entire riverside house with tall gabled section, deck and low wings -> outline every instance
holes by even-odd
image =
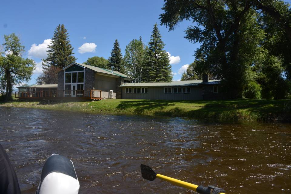
[[[224,99],[220,80],[134,83],[120,72],[73,62],[58,72],[58,84],[18,87],[15,98],[90,99]],[[26,91],[21,91],[21,90]]]

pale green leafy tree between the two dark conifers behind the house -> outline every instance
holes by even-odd
[[[142,37],[139,40],[133,39],[125,48],[125,73],[135,78],[137,82],[142,82],[144,59],[145,46]]]

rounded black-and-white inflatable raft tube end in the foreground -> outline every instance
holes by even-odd
[[[73,162],[53,154],[42,168],[42,176],[35,194],[78,194],[80,184]]]

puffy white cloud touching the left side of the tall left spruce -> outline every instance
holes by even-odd
[[[47,56],[48,45],[52,44],[52,39],[45,39],[41,44],[31,45],[28,51],[28,57],[36,57],[39,59],[44,59]]]

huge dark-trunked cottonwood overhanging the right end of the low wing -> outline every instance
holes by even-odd
[[[252,1],[165,1],[161,24],[173,30],[184,19],[195,26],[186,30],[186,38],[202,45],[197,53],[206,53],[208,71],[227,84],[229,97],[241,97],[249,78],[258,45],[264,32],[256,22]]]

